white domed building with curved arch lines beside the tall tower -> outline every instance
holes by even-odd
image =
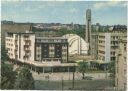
[[[87,43],[76,34],[66,34],[63,36],[69,44],[69,55],[87,55]]]

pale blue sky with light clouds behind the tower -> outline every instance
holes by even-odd
[[[90,8],[92,24],[127,25],[125,1],[5,1],[1,2],[1,20],[33,23],[86,24]]]

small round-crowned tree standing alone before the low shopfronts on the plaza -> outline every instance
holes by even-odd
[[[82,75],[83,75],[83,79],[84,79],[84,75],[85,75],[85,72],[88,70],[88,68],[89,68],[89,65],[88,65],[88,63],[87,62],[79,62],[78,63],[78,71],[80,72],[80,73],[82,73]]]

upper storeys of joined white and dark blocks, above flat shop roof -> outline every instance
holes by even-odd
[[[35,33],[7,33],[6,49],[11,59],[67,62],[68,42],[62,37],[36,37]]]

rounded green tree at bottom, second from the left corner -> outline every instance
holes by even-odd
[[[32,90],[34,88],[35,86],[32,73],[27,67],[21,68],[15,83],[15,89]]]

